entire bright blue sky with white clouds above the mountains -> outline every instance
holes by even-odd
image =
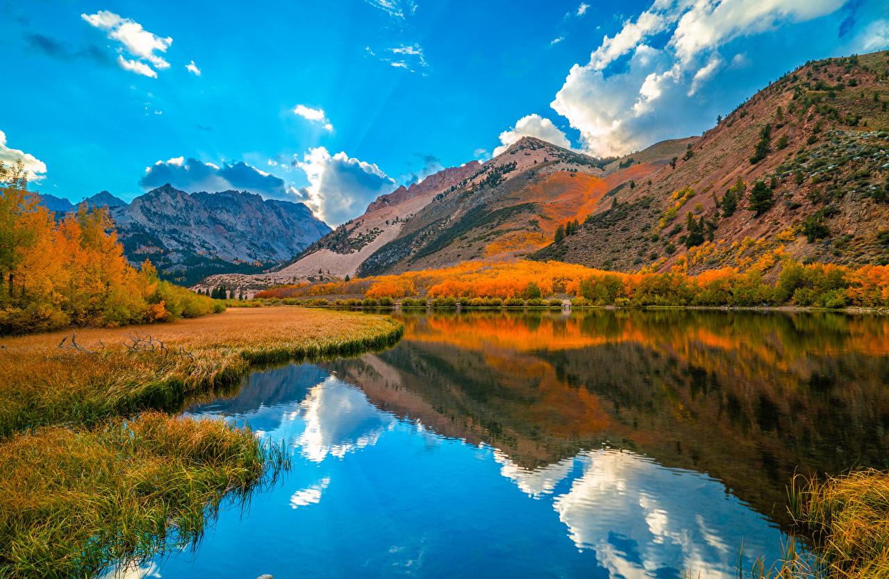
[[[621,155],[886,48],[885,0],[0,0],[0,161],[74,202],[235,188],[335,226],[524,135]]]

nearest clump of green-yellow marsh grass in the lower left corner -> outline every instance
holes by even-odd
[[[284,449],[219,420],[148,412],[0,446],[0,576],[89,577],[196,541],[223,500],[274,484]]]

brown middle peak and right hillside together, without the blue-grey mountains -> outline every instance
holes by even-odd
[[[889,52],[813,61],[701,137],[616,159],[525,137],[409,210],[388,203],[397,226],[362,251],[360,228],[339,229],[282,272],[355,277],[478,258],[623,272],[682,263],[693,274],[782,255],[889,263],[887,81]],[[378,209],[368,210],[356,223]]]

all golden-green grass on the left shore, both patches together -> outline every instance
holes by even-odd
[[[249,430],[163,411],[254,365],[401,333],[380,315],[267,307],[0,338],[0,577],[90,577],[195,540],[221,501],[246,500],[287,460]]]

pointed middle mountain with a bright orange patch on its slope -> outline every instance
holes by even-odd
[[[466,259],[522,257],[547,245],[558,226],[582,219],[626,177],[608,160],[523,137],[471,177],[437,195],[357,274],[449,266]],[[633,167],[638,175],[664,159]],[[615,178],[614,175],[619,177]],[[621,177],[622,176],[622,177]]]

